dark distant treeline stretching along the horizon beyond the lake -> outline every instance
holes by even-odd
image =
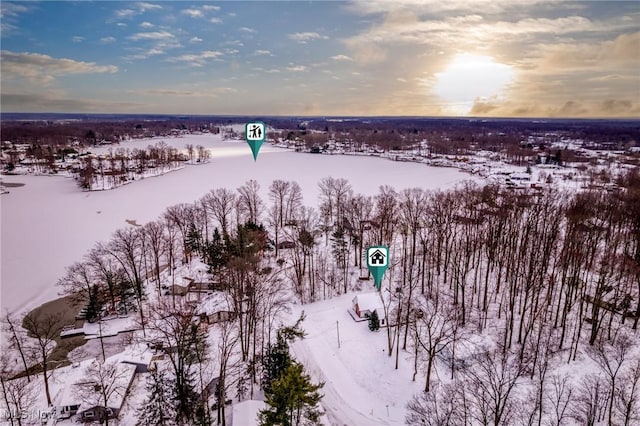
[[[443,141],[449,147],[474,144],[498,148],[518,144],[529,136],[582,139],[624,149],[640,144],[639,120],[479,119],[479,118],[326,118],[326,117],[221,117],[144,115],[3,114],[2,140],[14,143],[64,145],[70,140],[94,144],[124,137],[168,136],[175,130],[211,131],[219,126],[262,120],[269,126],[299,135],[325,134],[353,137],[384,148],[409,146],[416,140]]]

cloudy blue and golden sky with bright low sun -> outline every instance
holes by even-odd
[[[640,117],[640,2],[1,9],[5,112]]]

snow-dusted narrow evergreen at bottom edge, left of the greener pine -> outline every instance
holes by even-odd
[[[173,383],[163,371],[151,371],[145,386],[149,398],[138,410],[136,426],[164,426],[175,424],[176,409]]]

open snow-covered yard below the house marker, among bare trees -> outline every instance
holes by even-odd
[[[325,382],[322,406],[331,424],[403,425],[406,402],[422,389],[420,382],[411,381],[412,356],[401,352],[394,369],[386,329],[371,332],[366,321],[349,315],[354,294],[296,306],[294,316],[306,314],[302,328],[307,335],[293,343],[293,353],[316,381]]]

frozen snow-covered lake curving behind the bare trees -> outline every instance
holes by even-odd
[[[153,141],[122,146],[145,148]],[[380,185],[396,189],[419,186],[449,188],[468,179],[457,169],[401,163],[373,157],[302,154],[267,145],[254,163],[249,147],[240,141],[222,141],[214,135],[167,139],[177,147],[203,145],[212,161],[167,175],[136,181],[98,192],[82,192],[63,177],[2,176],[9,188],[0,198],[1,291],[0,306],[10,312],[35,307],[56,298],[56,281],[65,267],[80,260],[97,241],[107,240],[127,219],[144,224],[166,207],[192,202],[217,187],[235,189],[257,180],[263,199],[274,179],[297,181],[306,205],[316,205],[318,182],[326,176],[346,178],[354,191],[373,195]],[[100,148],[106,150],[107,148]],[[93,150],[94,152],[98,150]]]

